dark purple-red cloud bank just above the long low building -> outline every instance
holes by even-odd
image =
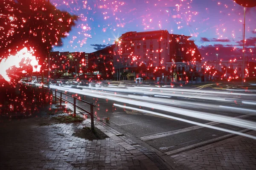
[[[236,48],[235,48],[236,47]],[[218,50],[217,50],[218,48]],[[245,56],[251,56],[250,50],[256,51],[256,47],[254,48],[245,48]],[[198,47],[202,57],[207,60],[215,60],[216,54],[218,54],[218,59],[231,59],[236,58],[240,59],[243,55],[242,48],[238,48],[237,45],[223,45],[223,44],[214,44],[214,45],[201,45]]]

